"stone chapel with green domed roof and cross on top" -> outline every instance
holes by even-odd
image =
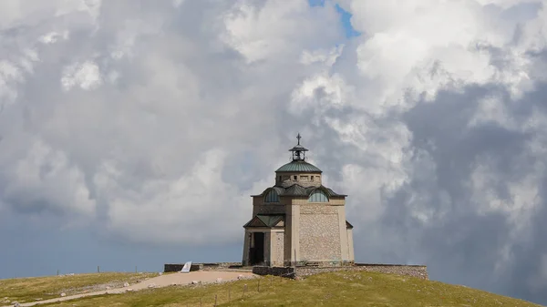
[[[322,171],[305,160],[308,149],[289,149],[291,162],[275,171],[275,184],[253,195],[243,265],[349,265],[355,261],[346,195],[322,184]]]

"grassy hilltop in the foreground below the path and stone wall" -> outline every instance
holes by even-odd
[[[261,292],[257,292],[260,280]],[[243,288],[247,292],[243,297]],[[228,295],[230,292],[230,301]],[[302,281],[263,277],[222,284],[170,286],[47,306],[539,306],[439,281],[375,272],[334,272]]]

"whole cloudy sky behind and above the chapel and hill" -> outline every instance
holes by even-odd
[[[0,0],[0,278],[241,261],[299,132],[356,261],[547,304],[544,5]]]

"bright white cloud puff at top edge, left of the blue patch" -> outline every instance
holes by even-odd
[[[297,46],[317,39],[309,36],[316,33],[316,28],[324,29],[324,39],[335,35],[336,27],[320,25],[335,21],[332,5],[321,9],[319,14],[314,13],[305,1],[239,0],[222,16],[222,40],[239,51],[248,63],[292,57],[299,52]]]

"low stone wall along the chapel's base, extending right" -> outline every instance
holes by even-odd
[[[254,274],[285,276],[290,278],[306,277],[331,271],[376,271],[387,274],[412,276],[423,280],[429,279],[428,267],[425,265],[356,263],[355,265],[336,267],[253,267]]]

